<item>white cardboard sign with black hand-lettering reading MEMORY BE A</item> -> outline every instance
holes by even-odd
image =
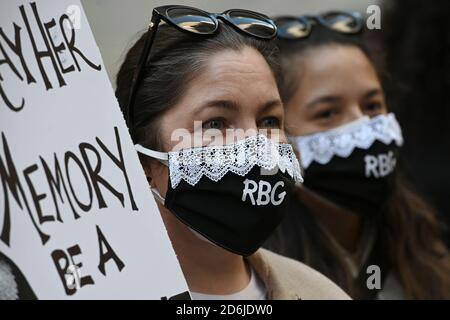
[[[188,288],[78,0],[0,4],[0,252],[40,299]]]

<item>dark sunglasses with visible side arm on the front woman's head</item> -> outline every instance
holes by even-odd
[[[138,60],[138,65],[134,71],[128,98],[126,120],[130,132],[132,132],[134,125],[134,102],[137,88],[142,78],[155,33],[161,21],[182,32],[208,36],[219,31],[219,19],[238,31],[258,39],[270,40],[277,35],[277,27],[269,17],[249,10],[231,9],[218,14],[178,5],[162,6],[153,9],[152,19],[144,40],[144,47]]]

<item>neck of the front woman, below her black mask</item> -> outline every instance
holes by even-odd
[[[166,208],[160,212],[191,291],[226,295],[248,285],[250,270],[242,256],[198,238]]]

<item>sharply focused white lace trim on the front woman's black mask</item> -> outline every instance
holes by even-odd
[[[186,181],[196,185],[203,176],[217,182],[228,172],[247,175],[254,166],[278,167],[296,182],[303,182],[300,165],[290,144],[279,144],[265,135],[251,136],[234,144],[207,146],[169,152],[172,188]]]

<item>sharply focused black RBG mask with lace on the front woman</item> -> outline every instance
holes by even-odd
[[[253,254],[275,230],[302,181],[292,147],[264,135],[169,152],[168,161],[168,190],[165,199],[156,198],[192,230],[242,256]]]

